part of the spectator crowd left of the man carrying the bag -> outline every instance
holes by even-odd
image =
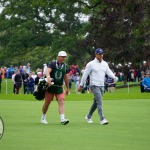
[[[14,94],[33,94],[33,91],[38,85],[39,79],[43,76],[43,74],[44,71],[40,68],[36,70],[36,73],[34,71],[31,71],[30,63],[28,63],[26,66],[20,65],[19,67],[13,67],[12,65],[10,65],[9,68],[1,67],[0,83],[2,82],[3,78],[12,79]]]

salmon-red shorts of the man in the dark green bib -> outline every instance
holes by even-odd
[[[51,102],[53,101],[54,96],[56,97],[56,100],[58,99],[65,99],[65,93],[60,93],[60,94],[53,94],[53,93],[49,93],[48,91],[45,92],[45,100],[47,102]]]

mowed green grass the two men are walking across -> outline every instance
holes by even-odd
[[[84,117],[93,99],[86,93],[66,97],[65,114],[70,123],[63,126],[56,101],[47,113],[49,124],[43,125],[44,101],[30,94],[0,94],[0,116],[5,124],[0,150],[149,150],[150,93],[140,93],[139,87],[122,88],[103,98],[108,125],[100,125],[97,111],[94,123],[86,123]]]

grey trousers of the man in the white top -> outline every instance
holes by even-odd
[[[104,87],[92,85],[90,86],[90,89],[94,95],[94,101],[89,110],[87,117],[90,119],[97,108],[100,120],[103,120],[104,114],[102,109],[102,96],[104,93]]]

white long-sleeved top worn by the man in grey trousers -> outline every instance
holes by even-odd
[[[83,86],[88,75],[90,76],[90,85],[104,86],[105,75],[108,75],[110,78],[114,79],[115,75],[110,70],[106,61],[102,60],[99,62],[97,58],[90,61],[85,68],[84,74],[81,79],[80,85]]]

